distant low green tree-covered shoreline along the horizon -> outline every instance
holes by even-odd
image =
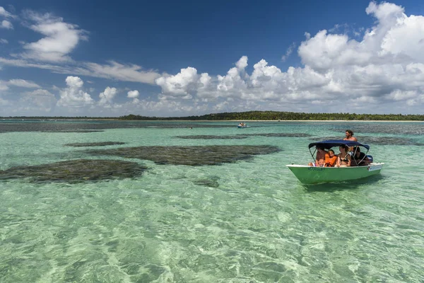
[[[0,117],[0,119],[36,119],[36,120],[324,120],[324,121],[424,121],[424,115],[402,114],[355,114],[355,113],[303,113],[303,112],[278,112],[278,111],[247,111],[223,112],[200,116],[186,117],[148,117],[141,115],[124,115],[120,117]]]

